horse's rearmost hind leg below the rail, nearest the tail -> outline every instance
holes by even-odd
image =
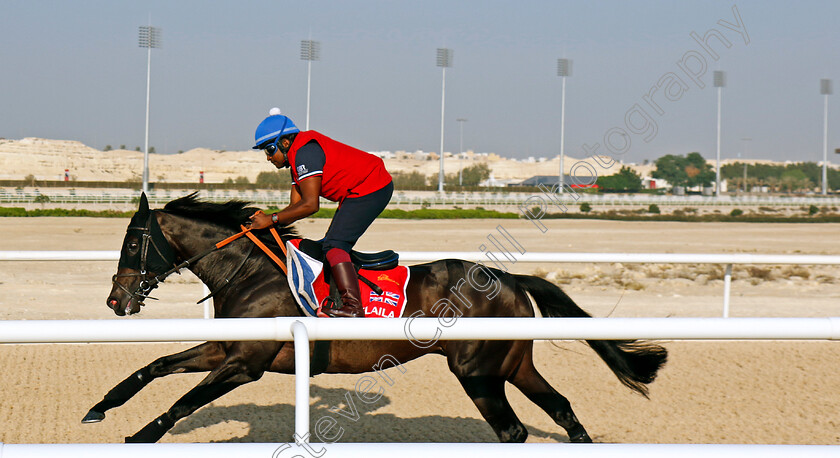
[[[586,429],[580,424],[575,413],[572,412],[572,405],[562,394],[558,393],[548,382],[537,372],[529,349],[522,364],[520,364],[510,382],[554,420],[562,426],[569,435],[571,442],[592,442]]]

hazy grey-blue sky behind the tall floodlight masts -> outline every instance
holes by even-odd
[[[567,155],[714,158],[720,70],[722,158],[819,161],[820,79],[840,84],[837,17],[835,1],[0,0],[0,137],[142,147],[138,27],[151,24],[162,29],[149,133],[159,153],[247,150],[272,107],[305,128],[300,42],[312,39],[310,128],[367,151],[440,149],[446,47],[445,151],[462,140],[511,158],[559,154],[567,58]]]

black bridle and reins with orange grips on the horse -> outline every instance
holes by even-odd
[[[152,248],[154,248],[155,252],[157,253],[157,255],[159,257],[161,257],[162,259],[166,259],[166,256],[163,254],[163,251],[166,251],[166,250],[161,250],[157,246],[157,244],[155,243],[154,237],[151,234],[151,222],[152,222],[153,217],[154,217],[154,214],[149,215],[149,218],[146,220],[145,227],[137,227],[137,226],[131,227],[131,226],[129,226],[129,228],[128,228],[129,230],[130,229],[139,230],[142,233],[143,240],[142,240],[142,244],[141,244],[141,248],[140,248],[140,272],[139,273],[130,273],[130,274],[115,274],[111,278],[111,282],[113,284],[117,285],[120,289],[122,289],[123,291],[128,293],[131,297],[139,297],[140,298],[140,300],[139,300],[140,305],[144,305],[143,301],[145,301],[146,299],[155,299],[156,300],[156,298],[149,296],[149,293],[153,289],[157,288],[160,283],[163,283],[163,281],[166,279],[166,277],[168,277],[169,275],[172,275],[175,272],[180,271],[181,269],[183,269],[185,267],[189,267],[190,265],[198,262],[200,259],[209,255],[210,253],[213,253],[216,250],[224,248],[225,246],[229,245],[231,242],[234,242],[234,241],[242,238],[243,236],[248,237],[248,239],[250,239],[254,243],[254,245],[258,246],[260,248],[260,250],[262,250],[275,264],[277,264],[277,266],[280,267],[280,270],[282,270],[285,275],[289,274],[288,269],[286,268],[286,263],[284,261],[282,261],[280,258],[278,258],[277,255],[275,255],[262,241],[260,241],[260,239],[257,238],[256,235],[252,234],[250,228],[246,228],[245,226],[239,226],[242,229],[242,232],[238,232],[238,233],[236,233],[236,234],[234,234],[234,235],[232,235],[232,236],[230,236],[230,237],[228,237],[224,240],[221,240],[221,241],[217,242],[216,244],[214,244],[212,247],[208,248],[207,250],[190,257],[189,259],[181,262],[180,264],[175,265],[174,267],[167,270],[166,272],[164,272],[162,274],[159,274],[159,275],[155,276],[154,278],[152,278],[150,280],[146,280],[146,274],[147,274],[147,272],[146,272],[146,258],[147,258],[148,252],[149,252],[149,247],[151,246]],[[269,232],[271,232],[271,235],[274,237],[274,240],[277,242],[277,245],[280,247],[280,250],[283,252],[283,255],[287,256],[286,246],[283,243],[283,240],[280,238],[280,235],[277,234],[277,230],[274,227],[271,227],[269,229]],[[224,283],[221,286],[219,286],[218,288],[216,288],[215,291],[211,292],[210,294],[208,294],[207,296],[202,298],[200,301],[198,301],[198,303],[200,304],[200,303],[206,301],[207,299],[213,297],[214,295],[216,295],[216,293],[218,293],[224,287],[226,287],[228,284],[230,284],[230,280],[233,277],[235,277],[237,273],[239,273],[239,271],[245,265],[245,262],[251,256],[253,251],[254,251],[254,246],[252,245],[251,249],[248,251],[248,254],[245,256],[245,258],[242,260],[242,262],[239,263],[239,265],[236,267],[236,269],[233,270],[231,275],[229,275],[228,278],[225,279]],[[167,262],[170,263],[170,264],[175,264],[174,260],[173,261],[167,260]],[[122,286],[120,283],[117,282],[117,278],[119,278],[119,277],[141,277],[140,285],[138,285],[137,289],[132,293],[128,289],[126,289],[124,286]]]

